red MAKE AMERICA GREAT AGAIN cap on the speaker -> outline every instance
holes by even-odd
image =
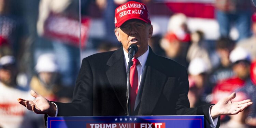
[[[115,27],[120,27],[129,19],[140,19],[151,24],[146,5],[136,1],[124,3],[115,10]]]

